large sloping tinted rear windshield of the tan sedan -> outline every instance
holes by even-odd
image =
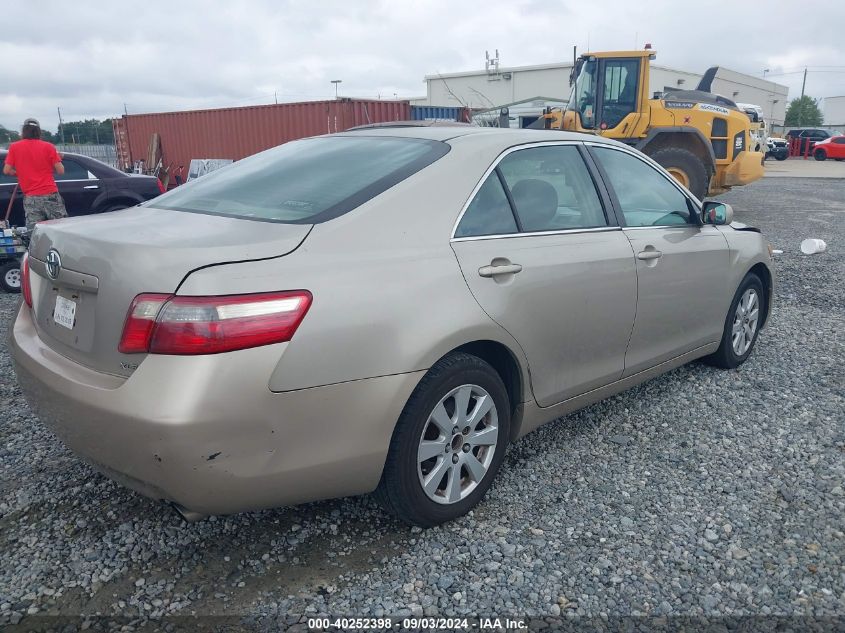
[[[430,165],[446,143],[331,136],[280,145],[147,203],[160,209],[313,224],[351,211]]]

